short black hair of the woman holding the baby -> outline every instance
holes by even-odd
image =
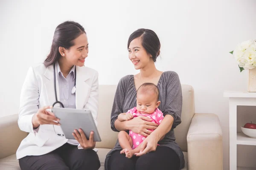
[[[156,62],[157,57],[160,54],[161,47],[157,34],[150,29],[140,28],[130,35],[127,48],[129,48],[131,41],[138,37],[141,37],[141,44],[143,48],[145,48],[148,54],[152,55],[154,62]]]

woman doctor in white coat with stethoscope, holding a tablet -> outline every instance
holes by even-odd
[[[87,56],[84,28],[66,21],[55,29],[44,64],[29,68],[21,91],[18,119],[20,129],[29,132],[16,153],[21,170],[99,169],[93,132],[89,140],[81,129],[74,130],[76,140],[65,139],[59,120],[50,112],[58,101],[65,108],[90,110],[96,122],[98,73],[84,67]]]

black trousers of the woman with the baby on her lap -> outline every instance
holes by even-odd
[[[131,159],[114,152],[108,162],[108,170],[179,170],[180,158],[169,147],[157,147],[155,152]]]

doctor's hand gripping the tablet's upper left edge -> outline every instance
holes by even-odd
[[[60,121],[55,115],[47,111],[47,109],[51,109],[52,106],[44,106],[43,108],[38,109],[38,112],[35,113],[32,117],[33,128],[37,128],[39,125],[60,125],[58,122]],[[56,122],[54,122],[56,121]]]

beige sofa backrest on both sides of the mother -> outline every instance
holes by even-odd
[[[183,105],[181,113],[182,123],[175,128],[176,142],[183,151],[187,151],[186,135],[189,125],[195,113],[194,90],[190,85],[182,86]],[[113,148],[116,144],[117,132],[111,130],[110,116],[113,105],[113,99],[116,92],[116,85],[99,85],[99,113],[98,130],[102,142],[97,142],[98,148]]]

